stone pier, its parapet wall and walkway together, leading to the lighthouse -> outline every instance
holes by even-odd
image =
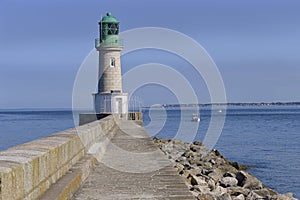
[[[108,116],[0,152],[0,200],[194,199],[139,124]]]

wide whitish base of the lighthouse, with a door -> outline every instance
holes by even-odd
[[[94,94],[94,110],[96,113],[120,114],[127,117],[127,93],[97,93]]]

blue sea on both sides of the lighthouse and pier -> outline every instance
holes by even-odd
[[[192,121],[195,112],[200,122]],[[67,109],[2,109],[0,150],[72,128],[78,122],[73,117]],[[299,106],[143,110],[143,122],[152,137],[180,138],[183,134],[180,139],[203,141],[218,119],[224,120],[224,126],[216,129],[220,133],[213,141],[214,149],[231,161],[248,165],[247,171],[264,185],[300,198]]]

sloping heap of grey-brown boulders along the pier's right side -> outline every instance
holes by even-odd
[[[291,193],[279,194],[266,187],[246,166],[230,162],[201,142],[158,139],[154,142],[174,163],[197,199],[203,200],[296,200]]]

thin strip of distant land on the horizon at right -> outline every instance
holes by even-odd
[[[300,102],[272,102],[272,103],[208,103],[208,104],[162,104],[154,107],[177,108],[177,107],[211,107],[211,106],[240,106],[240,107],[259,107],[259,106],[300,106]],[[150,108],[145,106],[143,108]]]

